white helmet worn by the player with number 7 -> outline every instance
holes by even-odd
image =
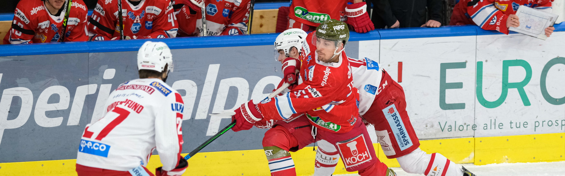
[[[173,71],[173,57],[167,44],[147,41],[137,52],[137,69],[163,72],[168,64],[168,71]]]

